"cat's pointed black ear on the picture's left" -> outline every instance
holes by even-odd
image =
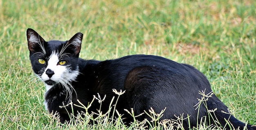
[[[42,46],[44,39],[33,29],[27,29],[27,46],[30,52],[34,52],[35,48]]]

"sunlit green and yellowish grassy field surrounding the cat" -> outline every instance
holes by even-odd
[[[236,118],[256,125],[256,2],[245,1],[0,0],[0,130],[140,127],[56,122],[33,79],[27,28],[45,40],[82,32],[85,59],[152,54],[193,65]]]

